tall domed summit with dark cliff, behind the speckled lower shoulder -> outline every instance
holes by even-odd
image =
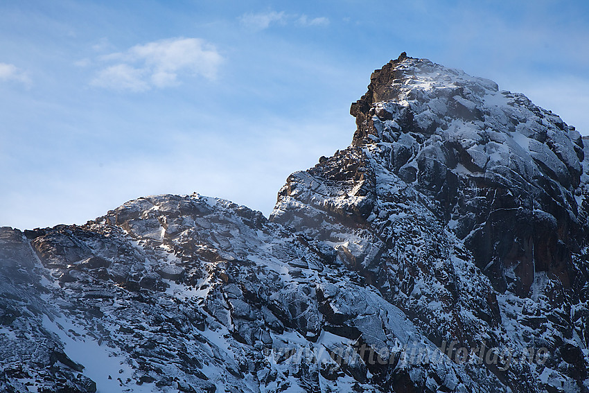
[[[387,169],[439,203],[437,214],[500,291],[529,295],[534,272],[579,292],[571,260],[589,234],[583,141],[559,116],[428,60],[389,62],[353,103],[355,146],[384,146]]]

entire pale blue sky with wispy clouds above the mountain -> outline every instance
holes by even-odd
[[[2,1],[0,226],[193,191],[267,215],[402,51],[589,134],[587,42],[587,1]]]

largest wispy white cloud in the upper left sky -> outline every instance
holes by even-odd
[[[215,79],[222,56],[199,38],[173,38],[136,45],[100,60],[114,62],[96,74],[91,85],[116,90],[145,91],[179,85],[179,77]]]

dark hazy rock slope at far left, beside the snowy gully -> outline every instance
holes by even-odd
[[[96,391],[62,342],[39,324],[47,292],[22,233],[0,228],[0,390],[28,392],[25,383],[33,377],[46,392]]]

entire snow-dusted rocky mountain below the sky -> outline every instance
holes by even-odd
[[[589,140],[405,53],[350,112],[270,218],[1,228],[0,391],[589,392]]]

